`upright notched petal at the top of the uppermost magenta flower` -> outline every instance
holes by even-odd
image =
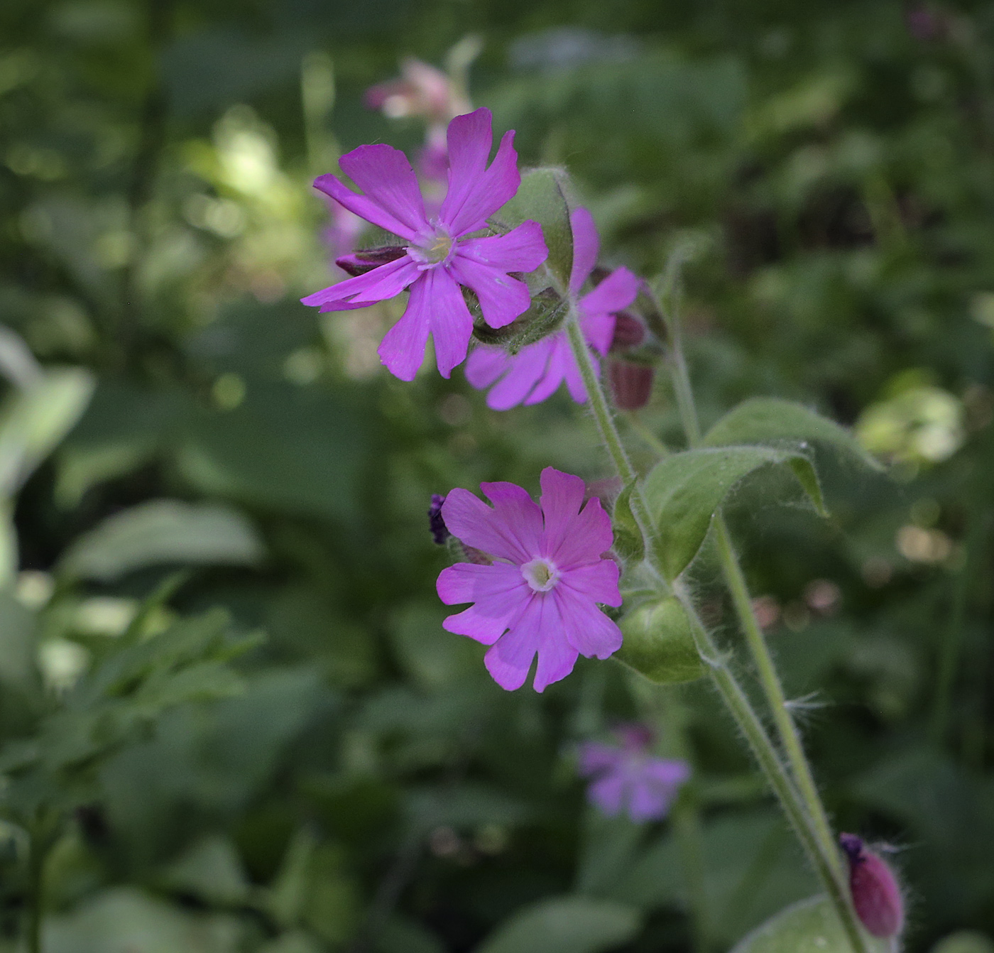
[[[494,161],[484,169],[493,141],[491,121],[489,109],[477,109],[448,124],[448,193],[438,218],[455,237],[482,229],[521,185],[513,131],[504,133]]]

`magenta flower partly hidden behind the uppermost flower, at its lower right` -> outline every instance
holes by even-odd
[[[576,209],[570,223],[573,226],[570,291],[576,295],[597,262],[599,241],[593,218],[586,209]],[[638,285],[638,278],[627,268],[617,268],[580,298],[580,328],[598,354],[607,353],[614,335],[614,312],[635,300]],[[580,368],[570,350],[565,328],[522,348],[514,356],[500,348],[477,348],[466,362],[466,380],[479,391],[490,388],[487,404],[494,410],[507,410],[522,401],[539,403],[555,394],[564,381],[578,403],[586,399]]]

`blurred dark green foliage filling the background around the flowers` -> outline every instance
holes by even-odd
[[[470,32],[474,102],[569,166],[609,262],[694,249],[706,424],[786,397],[893,463],[820,447],[831,521],[745,479],[731,522],[831,813],[899,849],[908,949],[994,934],[994,7],[7,0],[0,943],[38,888],[58,953],[690,949],[669,825],[593,816],[573,770],[644,690],[581,660],[505,694],[439,624],[429,494],[604,477],[592,423],[403,385],[390,305],[296,301],[330,280],[311,177],[420,140],[364,88]],[[679,448],[664,381],[644,429]],[[709,544],[693,571],[731,634]],[[717,700],[656,691],[728,948],[815,886]]]

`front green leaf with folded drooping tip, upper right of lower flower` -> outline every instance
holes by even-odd
[[[658,527],[659,556],[671,579],[697,556],[712,518],[736,485],[770,464],[788,466],[818,513],[827,515],[818,476],[799,450],[700,448],[674,453],[656,465],[645,480],[643,492]]]

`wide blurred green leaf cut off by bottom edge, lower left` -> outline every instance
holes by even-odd
[[[134,887],[113,887],[46,921],[46,953],[239,953],[232,916],[189,913]]]

